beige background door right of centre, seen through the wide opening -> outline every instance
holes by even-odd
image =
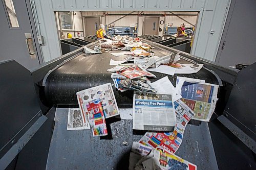
[[[144,17],[143,34],[158,35],[159,17]]]

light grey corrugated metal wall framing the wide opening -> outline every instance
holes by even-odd
[[[55,11],[189,11],[199,12],[197,30],[191,54],[214,61],[218,50],[226,13],[231,0],[31,0],[34,1],[34,12],[38,15],[37,26],[45,37],[41,46],[45,61],[60,56]],[[93,15],[98,14],[97,12]],[[99,12],[102,14],[102,12]],[[109,18],[112,20],[114,18]],[[183,21],[169,19],[174,25]],[[187,17],[194,22],[193,17]],[[131,19],[137,20],[137,19]],[[141,22],[142,17],[139,21]],[[107,21],[108,22],[108,21]],[[120,20],[120,24],[124,21]],[[126,23],[126,22],[125,22]],[[117,24],[117,23],[116,23]],[[118,23],[119,24],[119,23]],[[214,34],[212,31],[214,31]],[[142,34],[142,30],[139,30]]]

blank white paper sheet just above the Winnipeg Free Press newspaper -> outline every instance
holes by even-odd
[[[180,92],[169,81],[168,76],[151,83],[153,88],[159,94],[172,94],[173,101],[181,98]]]

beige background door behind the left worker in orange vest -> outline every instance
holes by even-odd
[[[85,17],[84,25],[86,26],[86,35],[96,35],[100,25],[100,17]]]

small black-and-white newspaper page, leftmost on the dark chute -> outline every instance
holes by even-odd
[[[89,123],[84,122],[84,119],[80,109],[69,108],[67,130],[90,129]]]

